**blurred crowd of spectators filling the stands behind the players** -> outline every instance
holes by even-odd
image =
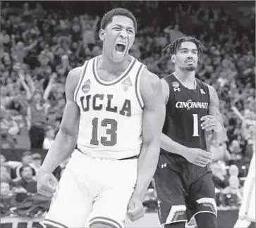
[[[138,18],[130,55],[159,77],[173,72],[173,63],[161,53],[166,44],[184,35],[205,44],[197,77],[217,89],[226,127],[224,142],[209,146],[214,156],[214,184],[219,205],[239,205],[255,140],[255,8],[238,16],[199,2],[94,4],[1,1],[1,148],[50,148],[66,103],[68,71],[102,53],[99,22],[104,12],[121,6]],[[1,157],[1,196],[10,195],[17,201],[13,197],[18,195],[22,202],[35,194],[42,158],[30,151],[21,163]],[[55,172],[56,179],[63,167]],[[155,206],[153,185],[145,202]]]

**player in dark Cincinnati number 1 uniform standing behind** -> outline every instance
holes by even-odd
[[[217,227],[212,171],[205,132],[222,141],[223,123],[215,89],[195,78],[202,44],[181,37],[164,49],[175,72],[162,80],[166,119],[155,175],[159,218],[165,228],[184,228],[191,215],[199,228]]]

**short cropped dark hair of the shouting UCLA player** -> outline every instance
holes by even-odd
[[[105,13],[100,23],[100,28],[104,30],[105,27],[112,22],[113,17],[116,15],[123,15],[133,20],[134,29],[135,29],[135,32],[137,32],[137,27],[138,27],[137,20],[133,15],[133,13],[128,11],[126,8],[114,8],[111,11]]]

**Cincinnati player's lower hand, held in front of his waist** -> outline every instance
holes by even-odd
[[[194,165],[205,167],[212,161],[211,153],[204,151],[200,148],[189,148],[186,153],[183,154],[185,159]]]

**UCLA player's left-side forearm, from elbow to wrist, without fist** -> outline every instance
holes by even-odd
[[[54,172],[60,163],[71,156],[76,142],[77,137],[75,135],[67,134],[64,130],[60,129],[44,159],[41,168],[42,172]]]

